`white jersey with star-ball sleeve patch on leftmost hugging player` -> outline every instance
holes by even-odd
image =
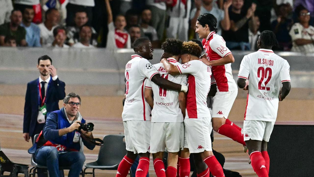
[[[132,60],[125,66],[126,100],[123,106],[122,119],[150,120],[151,108],[144,99],[147,78],[150,80],[159,74],[156,68],[145,58],[132,55]]]

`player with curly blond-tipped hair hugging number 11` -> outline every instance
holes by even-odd
[[[210,134],[212,132],[210,112],[207,107],[207,95],[210,89],[211,68],[199,61],[202,49],[192,41],[184,42],[181,49],[181,65],[173,65],[162,59],[166,71],[171,75],[189,74],[189,91],[184,119],[187,146],[190,153],[200,155],[197,158],[208,165],[204,171],[197,171],[198,176],[205,176],[209,171],[216,177],[225,176],[223,169],[212,152]]]

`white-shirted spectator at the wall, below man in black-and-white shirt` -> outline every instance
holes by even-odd
[[[92,28],[90,26],[87,25],[82,26],[79,32],[79,37],[80,42],[75,43],[73,45],[74,48],[95,48],[93,45],[89,43],[92,37]]]

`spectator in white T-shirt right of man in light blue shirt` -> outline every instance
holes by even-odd
[[[55,8],[48,9],[45,22],[38,25],[41,31],[42,46],[47,46],[47,44],[51,44],[54,41],[53,29],[57,27],[59,21],[59,11]]]

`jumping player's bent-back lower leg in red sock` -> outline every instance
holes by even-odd
[[[225,117],[213,117],[212,125],[215,132],[225,135],[243,146],[246,146],[241,130],[233,125],[226,124]]]

